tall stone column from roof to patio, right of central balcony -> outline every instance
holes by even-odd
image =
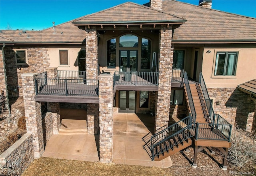
[[[168,125],[169,121],[173,60],[172,27],[166,28],[162,25],[159,43],[159,84],[155,131],[164,125]]]

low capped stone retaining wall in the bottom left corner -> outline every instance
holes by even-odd
[[[26,133],[0,155],[0,175],[21,175],[33,159],[33,137],[31,133]]]

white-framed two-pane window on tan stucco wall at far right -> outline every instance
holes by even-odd
[[[217,52],[214,75],[235,76],[238,52]]]

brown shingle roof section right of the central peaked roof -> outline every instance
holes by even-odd
[[[249,40],[256,42],[256,18],[204,8],[176,0],[164,0],[163,11],[186,18],[174,30],[172,41]]]

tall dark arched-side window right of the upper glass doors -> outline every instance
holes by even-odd
[[[150,69],[151,42],[146,38],[142,38],[141,44],[141,69]]]

